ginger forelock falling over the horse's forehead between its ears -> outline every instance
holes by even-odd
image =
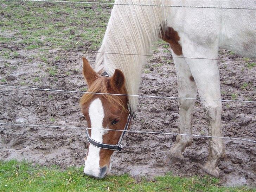
[[[80,100],[80,105],[83,105],[91,101],[92,97],[95,95],[93,93],[103,93],[102,96],[106,98],[110,103],[116,103],[117,105],[120,106],[122,110],[126,110],[124,103],[118,96],[104,94],[104,93],[109,93],[108,88],[109,88],[109,78],[105,78],[105,77],[97,78],[87,90],[88,93],[85,93],[82,96]]]

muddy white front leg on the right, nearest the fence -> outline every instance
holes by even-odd
[[[186,45],[183,46],[183,54],[185,57],[196,58],[217,58],[218,57],[218,44],[216,46],[206,48],[195,44],[193,41],[186,41]],[[215,47],[213,49],[213,47]],[[220,100],[220,82],[219,82],[219,70],[217,60],[211,59],[185,59],[190,70],[193,74],[193,78],[197,84],[200,98],[203,104],[204,114],[207,121],[209,136],[222,137],[221,128],[221,111],[222,103]],[[208,174],[215,177],[219,177],[219,168],[217,167],[220,159],[225,158],[225,145],[221,138],[209,138],[209,157],[206,164],[203,166],[203,170]]]

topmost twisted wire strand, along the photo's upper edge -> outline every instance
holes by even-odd
[[[83,2],[83,1],[52,1],[52,0],[23,0],[23,1],[38,1],[38,2],[61,2],[61,3],[83,3],[83,4],[101,4],[101,5],[133,5],[133,6],[154,6],[154,7],[184,7],[184,8],[211,8],[211,9],[247,9],[255,10],[256,8],[249,7],[206,7],[206,6],[181,6],[181,5],[152,5],[152,4],[121,4],[108,2]]]

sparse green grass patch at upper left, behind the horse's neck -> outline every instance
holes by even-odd
[[[17,1],[2,0],[1,5],[4,7],[0,7],[0,14],[5,15],[0,21],[1,34],[15,31],[11,37],[0,35],[1,43],[23,44],[28,48],[40,48],[48,44],[52,48],[87,47],[97,50],[111,11],[103,8],[102,5],[91,4],[51,3],[47,5],[38,2],[21,4]],[[70,33],[71,30],[75,33]],[[8,57],[8,55],[5,56],[5,58]]]

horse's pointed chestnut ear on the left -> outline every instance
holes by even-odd
[[[83,57],[83,75],[89,87],[98,78],[98,74],[92,69],[88,60],[85,59],[84,57]]]

